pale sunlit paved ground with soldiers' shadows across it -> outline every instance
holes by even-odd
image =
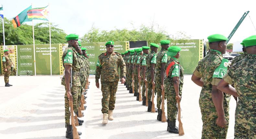
[[[0,81],[4,81],[0,76]],[[82,126],[81,139],[155,139],[155,138],[201,138],[202,120],[198,104],[201,88],[185,75],[182,93],[182,123],[185,135],[169,134],[167,123],[156,120],[157,113],[146,112],[147,107],[129,94],[119,84],[114,110],[114,120],[102,125],[101,91],[95,87],[94,77],[87,93],[87,110]],[[11,76],[13,87],[0,85],[0,137],[19,139],[65,138],[64,86],[61,76]],[[156,102],[156,101],[155,101]],[[234,138],[235,101],[230,101],[230,123],[227,138]],[[167,113],[167,112],[166,112]],[[178,123],[177,123],[178,124]]]

